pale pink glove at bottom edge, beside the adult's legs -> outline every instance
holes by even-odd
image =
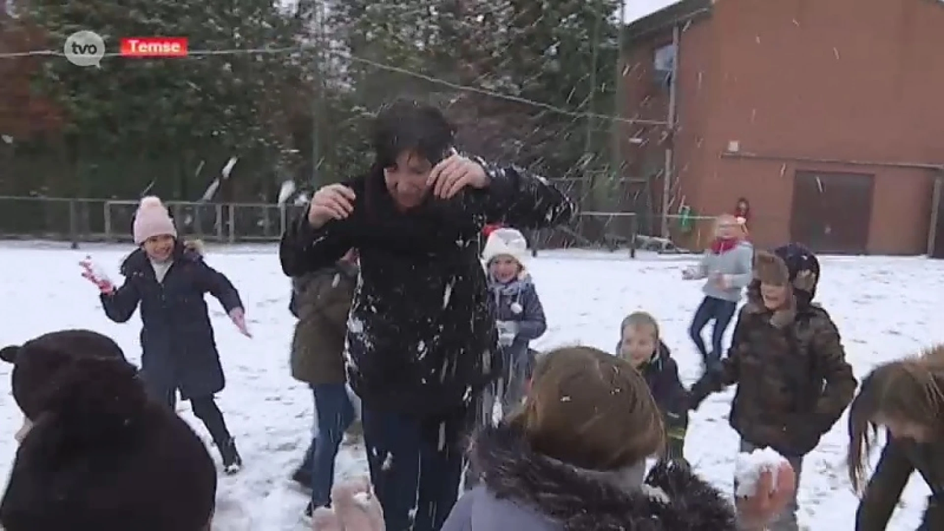
[[[331,508],[318,507],[312,514],[317,531],[383,531],[383,510],[366,478],[349,481],[331,490]]]

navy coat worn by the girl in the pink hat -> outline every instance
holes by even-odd
[[[142,378],[158,400],[175,388],[184,400],[211,396],[226,385],[204,294],[220,301],[227,313],[242,308],[233,284],[208,266],[194,246],[177,243],[174,264],[158,283],[147,254],[139,248],[121,266],[125,283],[102,295],[105,314],[126,322],[141,306]]]

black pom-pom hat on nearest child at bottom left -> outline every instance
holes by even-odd
[[[26,356],[33,352],[21,353]],[[115,357],[66,362],[36,398],[0,503],[7,531],[203,531],[216,471],[199,437]]]

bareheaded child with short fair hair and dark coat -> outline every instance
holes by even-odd
[[[623,319],[619,329],[616,353],[646,379],[666,424],[668,457],[682,458],[688,429],[686,393],[679,366],[659,338],[659,324],[646,312],[635,312]]]

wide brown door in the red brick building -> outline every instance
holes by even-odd
[[[865,254],[875,176],[797,171],[790,237],[815,252]]]

